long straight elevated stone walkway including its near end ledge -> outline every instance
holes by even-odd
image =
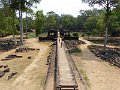
[[[57,90],[77,90],[75,77],[65,52],[64,42],[59,36],[57,39],[57,64]]]

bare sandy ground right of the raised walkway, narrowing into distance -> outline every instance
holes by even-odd
[[[83,40],[83,39],[82,39]],[[90,90],[120,90],[120,68],[111,66],[87,48],[90,42],[81,45],[82,55],[73,56],[74,62]]]

